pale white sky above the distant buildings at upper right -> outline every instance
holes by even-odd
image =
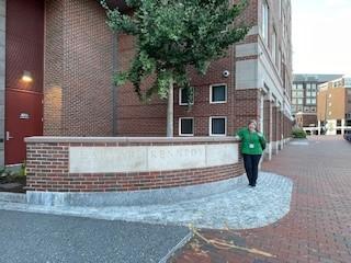
[[[351,76],[351,0],[292,0],[294,73]]]

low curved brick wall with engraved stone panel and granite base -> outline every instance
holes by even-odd
[[[233,137],[31,137],[25,141],[26,196],[34,204],[158,203],[168,194],[172,195],[168,199],[179,199],[186,198],[184,193],[195,197],[223,192],[231,187],[231,179],[244,174],[239,141]]]

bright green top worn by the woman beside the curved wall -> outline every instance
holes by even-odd
[[[262,155],[261,142],[265,145],[265,138],[261,133],[251,133],[245,127],[238,130],[237,136],[241,139],[241,153],[245,155]]]

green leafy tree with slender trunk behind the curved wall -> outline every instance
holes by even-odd
[[[131,68],[116,72],[116,85],[131,81],[141,101],[157,93],[168,98],[167,136],[173,136],[173,88],[191,93],[186,69],[194,67],[205,75],[212,60],[223,57],[227,48],[241,41],[249,27],[235,25],[234,20],[246,1],[229,4],[228,0],[126,0],[133,14],[110,9],[106,0],[107,24],[114,32],[136,38],[136,55]],[[155,82],[143,92],[143,80]],[[189,96],[192,98],[192,96]]]

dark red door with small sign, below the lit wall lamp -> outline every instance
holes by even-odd
[[[37,92],[5,91],[5,164],[25,160],[24,138],[43,135],[43,94]]]

